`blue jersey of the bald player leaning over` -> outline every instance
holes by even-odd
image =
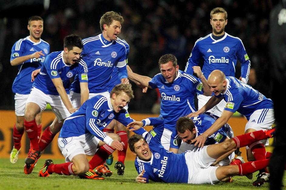
[[[235,77],[226,77],[227,90],[216,97],[223,97],[227,102],[224,110],[238,111],[247,120],[255,110],[273,109],[273,102],[251,86],[242,83]],[[266,113],[265,113],[266,115]],[[264,117],[265,117],[264,115]]]

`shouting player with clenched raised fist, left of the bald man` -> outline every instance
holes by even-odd
[[[210,88],[202,74],[200,67],[195,66],[194,72],[200,78],[186,74],[179,70],[177,58],[172,54],[165,54],[159,59],[161,73],[152,79],[128,71],[128,77],[145,87],[158,88],[161,94],[160,116],[164,118],[164,133],[161,143],[166,150],[178,152],[178,145],[173,144],[173,136],[177,135],[176,122],[181,116],[186,116],[195,110],[194,96],[196,93],[210,96]]]

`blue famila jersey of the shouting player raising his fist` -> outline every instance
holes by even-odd
[[[161,94],[160,116],[164,118],[165,128],[173,130],[181,116],[196,111],[194,96],[203,94],[203,84],[197,77],[179,70],[176,79],[168,83],[161,73],[149,82],[150,87],[158,88]]]

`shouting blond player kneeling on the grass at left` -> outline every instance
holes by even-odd
[[[39,176],[47,177],[58,173],[104,179],[98,175],[112,175],[102,164],[115,149],[122,150],[123,146],[117,134],[103,133],[99,128],[107,126],[113,119],[125,126],[133,122],[129,116],[126,117],[126,110],[123,109],[131,98],[134,98],[131,84],[118,84],[111,91],[110,97],[98,95],[83,103],[79,110],[65,120],[59,134],[58,145],[66,163],[53,164],[48,159]],[[86,155],[94,155],[92,159],[97,161],[93,162],[96,165],[89,164]],[[98,166],[98,175],[93,171],[95,166]]]

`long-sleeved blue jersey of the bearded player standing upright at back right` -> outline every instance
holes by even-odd
[[[185,72],[193,74],[193,66],[197,66],[200,58],[204,59],[202,72],[206,79],[213,70],[221,70],[226,76],[234,77],[237,59],[241,62],[241,77],[248,81],[250,60],[241,39],[225,32],[224,37],[214,40],[212,34],[196,41]]]

